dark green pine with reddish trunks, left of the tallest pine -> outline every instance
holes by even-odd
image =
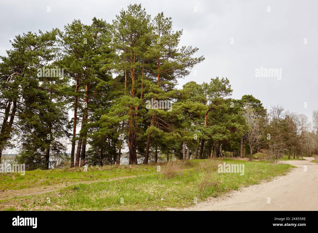
[[[65,26],[65,33],[60,32],[59,35],[60,44],[64,48],[63,62],[66,65],[67,74],[76,82],[75,92],[71,93],[74,96],[71,161],[74,161],[77,115],[80,109],[82,124],[74,166],[84,166],[89,130],[88,118],[96,108],[90,102],[105,94],[104,90],[100,91],[100,86],[109,80],[109,70],[112,69],[112,53],[109,47],[110,25],[96,18],[93,18],[92,25],[83,25],[79,20],[75,20],[71,25]]]

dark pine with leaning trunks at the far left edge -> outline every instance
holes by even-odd
[[[29,32],[17,36],[11,42],[13,49],[7,51],[7,57],[1,57],[1,102],[4,103],[5,114],[0,132],[0,159],[2,150],[12,138],[12,132],[28,129],[20,120],[32,119],[38,114],[31,111],[34,103],[32,96],[40,91],[37,69],[42,69],[53,59],[55,31],[39,31],[38,34]]]

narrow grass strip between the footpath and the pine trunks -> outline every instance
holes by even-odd
[[[0,173],[0,191],[48,187],[55,184],[72,184],[80,181],[107,180],[116,177],[144,175],[156,172],[154,165],[120,165],[83,168],[25,171],[20,173]]]

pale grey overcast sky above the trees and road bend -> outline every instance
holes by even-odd
[[[205,60],[179,87],[189,81],[230,80],[233,98],[252,94],[265,107],[282,104],[292,112],[318,109],[318,1],[101,1],[38,0],[0,3],[0,55],[10,38],[28,31],[63,29],[93,17],[111,22],[120,8],[141,3],[151,16],[163,11],[175,30],[183,29],[181,45],[198,47]],[[47,12],[50,7],[50,12]],[[270,11],[270,12],[268,12]],[[280,77],[256,77],[255,69],[281,69]],[[193,70],[193,71],[194,71]],[[307,108],[304,107],[307,102]]]

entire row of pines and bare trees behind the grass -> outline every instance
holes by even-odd
[[[28,169],[48,169],[52,157],[72,167],[120,164],[124,148],[129,164],[157,162],[158,154],[252,156],[271,145],[315,153],[317,130],[304,115],[279,106],[267,113],[251,95],[233,99],[227,78],[177,89],[204,60],[180,45],[181,35],[171,18],[135,4],[111,24],[74,20],[64,30],[16,36],[0,57],[0,160],[8,148],[19,149]]]

